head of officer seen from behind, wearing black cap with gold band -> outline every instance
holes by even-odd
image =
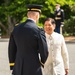
[[[37,5],[37,4],[27,5],[27,8],[28,8],[27,16],[28,16],[28,18],[31,18],[35,22],[38,22],[42,7],[43,7],[42,5]]]

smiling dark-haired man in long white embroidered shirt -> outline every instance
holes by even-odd
[[[47,18],[44,30],[48,44],[49,56],[44,65],[43,75],[68,75],[69,57],[64,37],[54,32],[55,21]]]

